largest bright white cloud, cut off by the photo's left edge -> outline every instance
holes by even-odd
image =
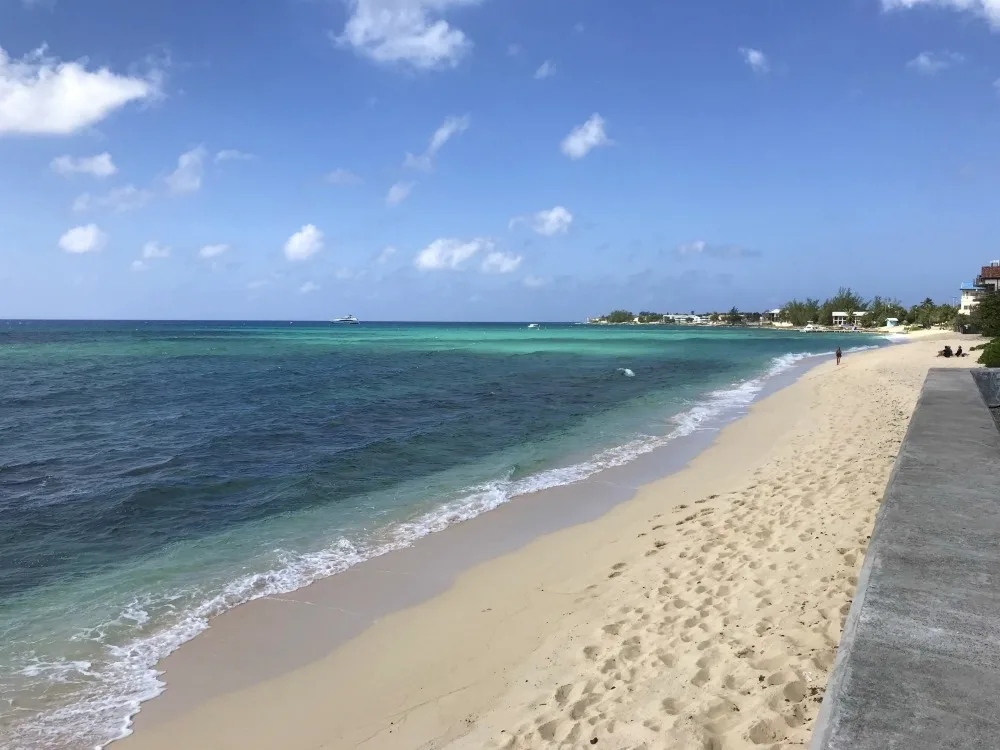
[[[60,62],[45,51],[12,60],[0,47],[0,135],[69,135],[160,93],[157,73],[137,78],[88,70],[86,60]]]

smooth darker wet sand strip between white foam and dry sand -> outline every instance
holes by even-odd
[[[877,346],[880,345],[871,348]],[[689,415],[692,410],[703,409],[709,411],[706,418],[688,431],[678,425],[674,432],[680,430],[679,434],[673,437],[673,433],[664,434],[659,438],[663,441],[661,445],[620,465],[599,469],[567,484],[515,495],[495,508],[422,536],[408,546],[367,558],[293,591],[243,602],[212,617],[207,629],[157,662],[164,687],[154,697],[142,701],[141,710],[129,719],[129,729],[134,730],[135,723],[146,726],[169,721],[207,699],[305,666],[355,637],[377,618],[442,593],[459,575],[476,565],[516,551],[546,534],[600,518],[634,497],[642,486],[682,470],[711,445],[719,430],[742,419],[758,400],[794,383],[828,356],[832,352],[788,355],[787,361],[779,357],[757,377],[706,392],[696,405],[679,414]],[[719,397],[721,406],[715,401]],[[717,413],[713,413],[715,408]],[[496,533],[498,528],[502,529],[500,533]],[[407,580],[417,579],[418,588],[396,585],[394,576],[383,575],[386,569],[406,570]],[[295,629],[303,624],[295,616],[290,624],[285,622],[284,615],[274,611],[277,602],[334,600],[354,603],[360,600],[361,606],[352,604],[347,610],[338,609],[345,616],[324,620],[322,637],[315,632],[318,625],[310,626],[306,633],[309,648],[289,654],[276,650],[269,642],[272,630]],[[256,618],[267,622],[267,628],[245,629],[243,623]],[[239,637],[231,637],[233,629]],[[181,650],[184,655],[176,656]],[[258,655],[253,669],[234,668],[240,664],[240,654],[248,652]],[[261,653],[265,654],[263,659]],[[180,684],[175,684],[171,671],[178,661],[181,678]],[[118,747],[122,739],[112,740],[105,747]]]

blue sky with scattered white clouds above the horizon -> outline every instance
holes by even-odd
[[[998,135],[1000,0],[0,0],[0,317],[951,301]]]

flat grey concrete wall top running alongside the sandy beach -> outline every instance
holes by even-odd
[[[810,747],[1000,748],[1000,431],[968,370],[924,383]]]

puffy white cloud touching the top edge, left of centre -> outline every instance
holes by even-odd
[[[338,44],[379,63],[422,70],[454,67],[472,49],[459,29],[441,18],[480,0],[348,0],[350,17]]]

